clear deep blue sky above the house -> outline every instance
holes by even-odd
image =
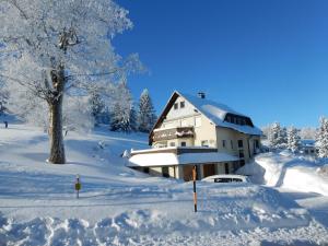
[[[136,99],[148,87],[157,114],[178,90],[203,91],[258,126],[317,126],[328,116],[328,1],[117,2],[134,27],[114,45],[149,68],[129,86]]]

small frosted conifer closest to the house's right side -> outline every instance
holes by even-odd
[[[286,147],[286,128],[282,128],[279,122],[273,122],[268,133],[270,148],[284,149]]]

